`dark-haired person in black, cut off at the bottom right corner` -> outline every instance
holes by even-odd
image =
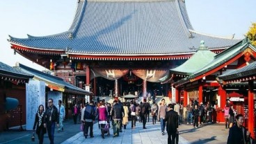
[[[250,132],[243,127],[243,115],[238,114],[235,119],[237,123],[233,127],[230,127],[227,144],[248,143],[250,140]]]

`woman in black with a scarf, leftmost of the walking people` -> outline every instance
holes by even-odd
[[[44,134],[46,134],[46,128],[44,127],[45,116],[45,108],[43,105],[40,105],[38,112],[35,114],[35,123],[33,125],[33,130],[35,130],[36,126],[35,134],[38,134],[39,144],[44,143]]]

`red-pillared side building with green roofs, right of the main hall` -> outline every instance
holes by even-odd
[[[254,118],[255,77],[252,75],[255,71],[253,69],[255,58],[256,48],[247,38],[217,55],[207,50],[201,42],[197,53],[181,66],[170,69],[170,75],[162,82],[170,82],[175,87],[176,99],[179,101],[182,98],[184,105],[189,104],[190,100],[211,102],[215,107],[215,122],[225,121],[223,108],[227,100],[232,102],[238,114],[245,115],[247,119],[249,109],[249,118]],[[195,61],[200,62],[201,65],[194,64]],[[248,71],[248,69],[252,70]],[[245,125],[253,134],[255,123],[252,120],[246,120]]]

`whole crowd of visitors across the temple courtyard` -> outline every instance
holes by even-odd
[[[65,117],[65,107],[61,100],[58,100],[58,106],[53,104],[53,100],[48,100],[48,107],[45,110],[43,105],[38,107],[38,113],[35,114],[35,123],[33,129],[36,128],[39,143],[43,143],[44,134],[48,134],[51,144],[54,143],[54,129],[57,125],[58,132],[63,131],[63,120]],[[58,107],[58,108],[57,108]],[[137,103],[135,100],[131,102],[120,102],[114,100],[112,104],[99,100],[99,102],[90,101],[89,103],[81,104],[80,107],[74,105],[73,118],[74,124],[77,123],[77,116],[81,123],[81,130],[85,138],[94,137],[93,126],[97,120],[99,129],[101,129],[101,136],[104,138],[105,134],[110,135],[109,128],[113,127],[113,137],[119,136],[123,129],[127,129],[129,120],[131,120],[131,129],[136,128],[136,122],[143,123],[143,129],[147,129],[146,123],[149,122],[149,116],[152,116],[152,124],[155,125],[157,121],[161,123],[161,134],[168,134],[168,143],[178,143],[178,125],[184,118],[182,116],[183,105],[179,102],[176,104],[166,105],[165,99],[162,99],[159,105],[153,102],[150,105],[146,99],[143,102]],[[193,127],[198,127],[205,122],[211,123],[211,113],[213,107],[210,102],[203,105],[201,102],[190,101],[186,105],[187,125],[191,124]],[[227,143],[239,143],[248,141],[250,133],[243,127],[243,116],[237,114],[232,105],[225,105],[223,109],[225,115],[225,127],[230,128]],[[237,140],[237,141],[235,141]]]

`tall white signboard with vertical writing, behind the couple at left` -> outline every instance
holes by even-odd
[[[45,107],[45,82],[29,80],[26,84],[26,130],[33,130],[39,105]]]

